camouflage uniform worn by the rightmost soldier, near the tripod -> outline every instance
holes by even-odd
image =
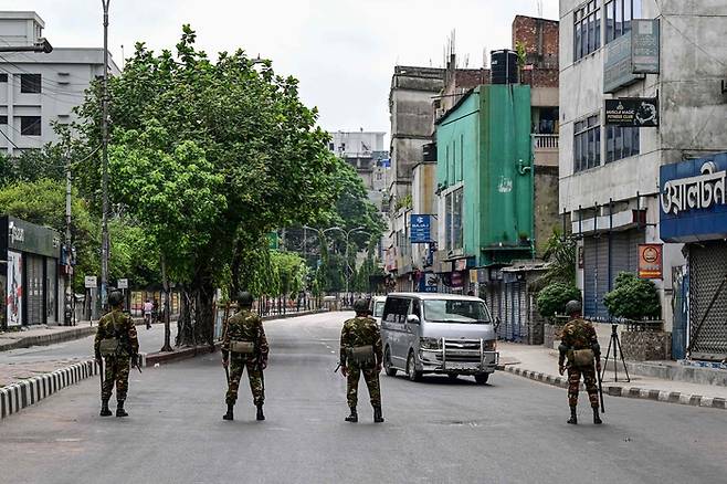
[[[596,366],[591,362],[587,366],[577,367],[573,362],[573,351],[578,349],[592,349],[596,360],[601,358],[601,347],[599,346],[593,325],[587,320],[576,318],[568,322],[562,328],[562,343],[559,347],[560,358],[558,359],[558,364],[562,366],[566,357],[568,357],[569,406],[572,408],[578,404],[578,389],[582,376],[591,407],[597,409],[599,401]]]

